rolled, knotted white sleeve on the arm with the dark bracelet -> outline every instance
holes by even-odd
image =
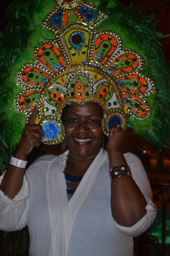
[[[130,166],[134,181],[146,198],[147,205],[145,209],[147,210],[147,213],[132,227],[121,226],[114,219],[113,222],[120,232],[126,234],[127,236],[135,237],[145,232],[151,226],[156,218],[157,208],[152,202],[151,186],[140,159],[132,153],[125,154],[124,156],[128,165]]]

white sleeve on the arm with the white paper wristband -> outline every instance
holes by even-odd
[[[0,176],[0,183],[3,175]],[[24,176],[23,185],[14,199],[4,195],[0,190],[0,230],[15,231],[27,225],[27,211],[29,207],[29,184]]]

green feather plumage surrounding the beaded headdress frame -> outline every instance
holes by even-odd
[[[116,0],[91,0],[98,11],[109,18],[98,26],[98,30],[112,29],[120,34],[123,47],[140,53],[146,59],[143,74],[152,77],[156,91],[147,98],[152,112],[145,120],[129,117],[129,124],[156,152],[169,143],[170,134],[170,68],[164,57],[158,38],[164,35],[155,29],[157,21],[153,15],[142,16],[130,6],[122,6]],[[25,115],[13,109],[14,97],[20,92],[15,77],[24,63],[33,61],[35,45],[44,39],[55,38],[54,34],[41,27],[47,13],[55,6],[53,0],[15,0],[6,9],[7,27],[0,32],[0,169],[4,171],[12,152],[19,143]],[[152,21],[155,23],[151,25]]]

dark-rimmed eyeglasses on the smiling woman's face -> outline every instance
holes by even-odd
[[[84,127],[89,128],[89,129],[95,129],[95,128],[100,127],[101,120],[90,119],[90,120],[87,120],[87,121],[84,121],[84,122],[80,122],[75,118],[64,119],[64,126],[70,127],[70,128],[75,128],[75,127],[78,127],[80,123],[83,123]]]

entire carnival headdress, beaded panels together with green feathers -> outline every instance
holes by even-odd
[[[36,3],[29,2],[27,14]],[[25,55],[13,51],[17,57],[7,79],[6,120],[11,127],[7,125],[6,130],[12,132],[12,148],[37,103],[36,123],[43,127],[44,142],[55,144],[65,136],[60,119],[64,106],[91,101],[103,108],[107,136],[112,125],[131,126],[155,149],[163,147],[170,124],[170,117],[164,118],[169,68],[161,57],[156,32],[132,8],[123,9],[113,0],[92,2],[97,6],[82,0],[38,1],[34,26],[24,24],[24,18],[32,17],[26,18],[20,10],[23,24],[15,26],[15,35],[23,43],[25,32],[29,40]],[[4,41],[8,48],[9,41]],[[11,111],[12,104],[16,113]]]

